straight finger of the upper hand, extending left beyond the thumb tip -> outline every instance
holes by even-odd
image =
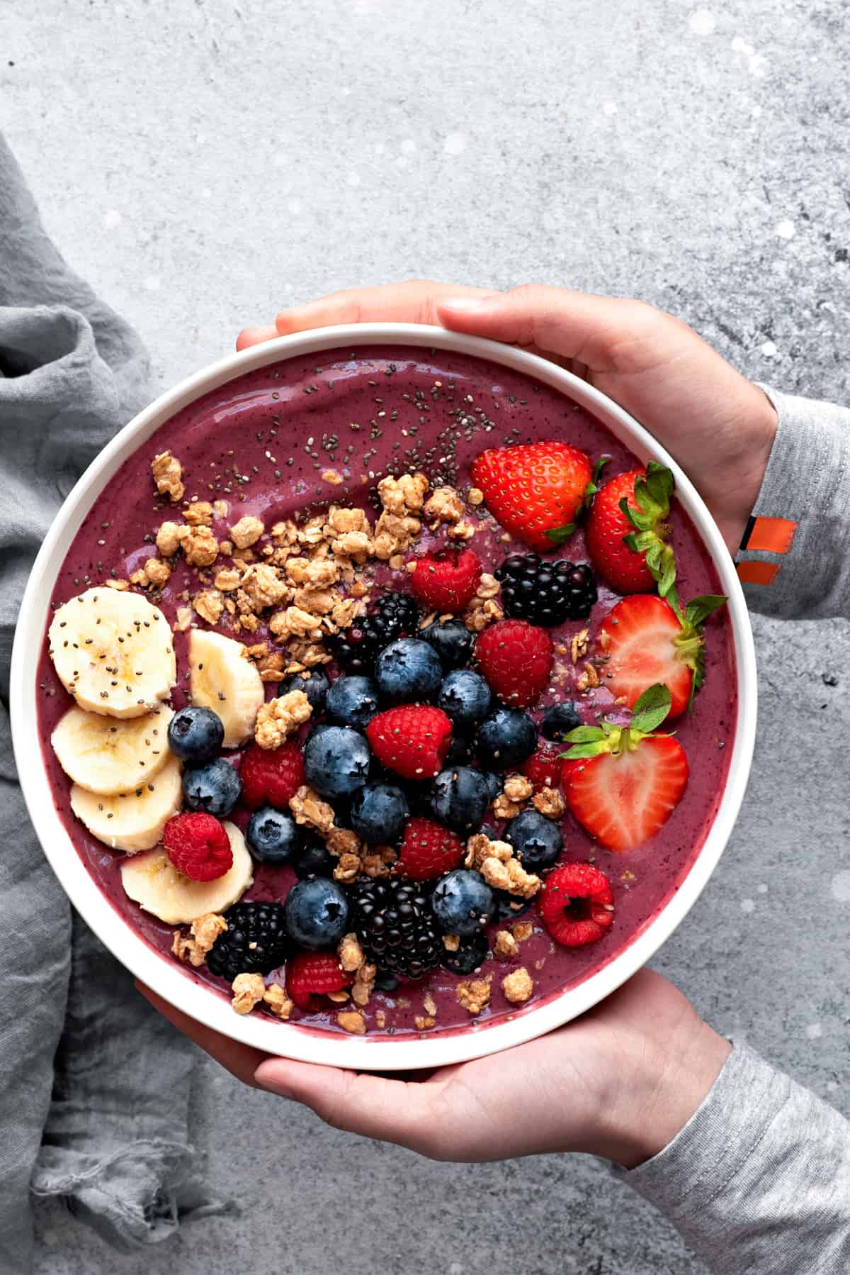
[[[437,302],[442,297],[487,296],[486,288],[435,283],[432,279],[409,279],[376,288],[348,288],[308,301],[303,306],[282,310],[275,324],[279,335],[328,328],[340,323],[431,323],[438,324]]]

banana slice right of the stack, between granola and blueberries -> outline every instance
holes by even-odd
[[[192,704],[218,713],[224,723],[226,748],[236,748],[251,738],[265,701],[263,678],[243,650],[234,638],[212,630],[192,629],[189,635]]]

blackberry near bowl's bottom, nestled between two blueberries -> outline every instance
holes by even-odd
[[[382,973],[422,978],[440,964],[442,938],[419,881],[358,881],[349,896],[363,951]]]

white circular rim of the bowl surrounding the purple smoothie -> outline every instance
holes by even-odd
[[[256,1015],[242,1017],[233,1012],[220,993],[187,978],[176,961],[164,959],[149,947],[101,894],[56,812],[42,761],[36,704],[36,669],[56,576],[80,523],[120,465],[154,430],[187,403],[236,376],[296,354],[340,347],[350,349],[364,344],[437,347],[477,354],[526,372],[562,390],[593,412],[641,462],[655,459],[669,465],[675,476],[678,499],[702,537],[720,576],[721,588],[729,597],[728,616],[738,673],[738,717],[725,792],[702,849],[679,889],[655,919],[598,973],[577,987],[547,998],[539,1006],[531,1002],[511,1017],[501,1017],[492,1024],[470,1023],[469,1026],[442,1034],[398,1040],[386,1037],[349,1037],[298,1024],[283,1025]],[[18,774],[45,854],[76,910],[117,959],[171,1005],[236,1040],[269,1053],[285,1052],[292,1058],[307,1062],[381,1071],[445,1066],[520,1044],[584,1014],[645,965],[698,898],[731,833],[749,775],[757,705],[753,638],[733,561],[701,497],[664,448],[604,394],[554,363],[491,340],[459,335],[442,328],[400,323],[324,328],[280,337],[231,354],[162,394],[130,421],[92,462],[70,492],[36,558],[15,632],[10,697]]]

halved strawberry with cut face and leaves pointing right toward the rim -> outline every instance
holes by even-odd
[[[668,717],[684,713],[705,676],[702,623],[725,601],[714,594],[695,598],[682,618],[656,594],[618,602],[599,626],[609,691],[633,708],[645,690],[663,682],[670,692]]]

